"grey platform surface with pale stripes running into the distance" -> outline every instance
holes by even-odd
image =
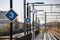
[[[40,33],[34,40],[57,40],[51,33]]]

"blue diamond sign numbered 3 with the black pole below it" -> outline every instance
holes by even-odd
[[[10,40],[12,40],[12,28],[13,28],[13,20],[17,17],[18,15],[15,13],[14,10],[10,9],[8,13],[6,14],[6,17],[11,21],[10,22]]]

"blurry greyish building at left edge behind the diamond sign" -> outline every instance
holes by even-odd
[[[6,24],[9,24],[9,20],[5,16],[6,13],[7,11],[0,11],[0,30],[2,30]]]

